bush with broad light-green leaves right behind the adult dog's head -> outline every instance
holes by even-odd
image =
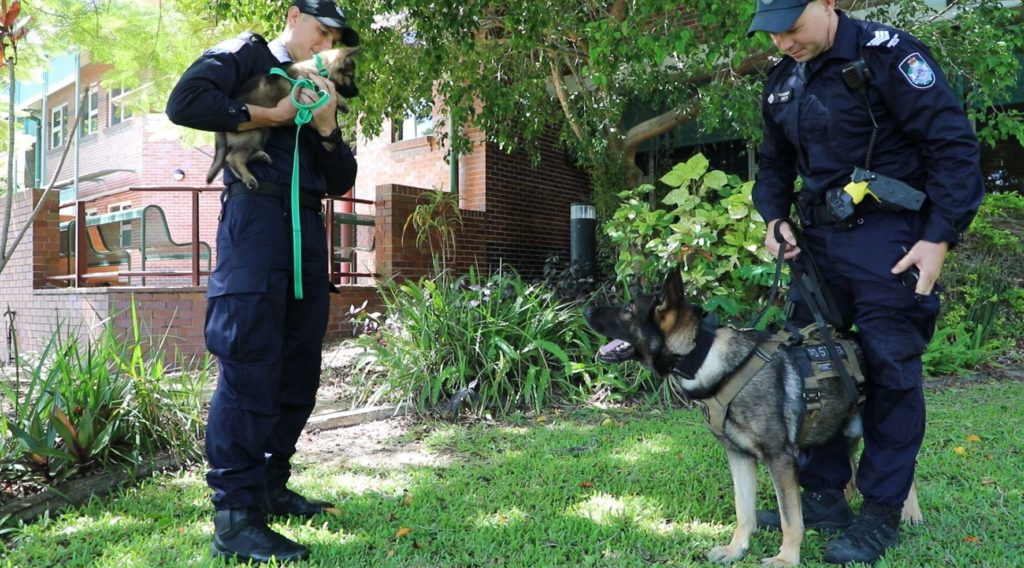
[[[660,182],[670,190],[653,207],[655,187],[620,193],[622,204],[603,225],[618,249],[616,278],[629,290],[651,287],[682,265],[689,292],[705,307],[735,317],[753,313],[774,266],[761,246],[764,223],[751,204],[753,182],[711,170],[702,155],[678,164]]]

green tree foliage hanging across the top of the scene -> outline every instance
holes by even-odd
[[[38,0],[48,37],[81,45],[118,77],[152,82],[155,110],[206,46],[249,28],[273,36],[288,0]],[[635,181],[639,146],[699,119],[705,130],[759,136],[761,80],[774,62],[764,34],[745,36],[751,0],[345,0],[359,31],[359,126],[435,112],[437,135],[466,151],[476,126],[505,149],[555,128],[613,195]],[[933,3],[934,4],[934,3]],[[929,44],[992,142],[1024,140],[1000,106],[1024,52],[1019,9],[997,0],[843,1],[858,16]],[[43,19],[41,17],[41,19]],[[455,128],[451,128],[455,125]]]

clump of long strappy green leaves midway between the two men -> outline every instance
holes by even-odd
[[[512,271],[441,272],[382,283],[380,295],[387,316],[359,316],[376,329],[357,340],[367,352],[354,377],[368,404],[409,400],[423,410],[457,395],[453,403],[464,397],[477,411],[507,412],[629,389],[593,362],[600,340],[579,307]]]

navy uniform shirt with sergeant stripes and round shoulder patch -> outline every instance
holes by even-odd
[[[764,140],[754,204],[766,221],[786,218],[799,173],[809,203],[864,167],[872,123],[864,95],[842,70],[863,57],[878,139],[870,170],[928,195],[922,238],[954,245],[984,193],[978,139],[930,50],[909,34],[840,10],[835,43],[814,59],[785,56],[762,97]]]

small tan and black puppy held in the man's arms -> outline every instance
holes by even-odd
[[[358,47],[342,47],[330,49],[319,53],[321,61],[328,72],[328,79],[334,83],[338,93],[338,110],[342,113],[348,112],[348,105],[344,98],[352,98],[359,95],[359,89],[355,86],[355,54]],[[316,62],[314,59],[285,63],[282,69],[292,79],[303,79],[317,75]],[[278,75],[261,75],[253,77],[239,89],[238,99],[246,104],[257,106],[276,106],[281,99],[289,96],[292,92],[292,83],[284,77]],[[263,151],[266,140],[270,136],[269,128],[254,128],[243,132],[217,132],[216,151],[213,156],[213,164],[206,174],[206,182],[213,181],[224,163],[231,168],[242,182],[250,189],[259,187],[259,182],[253,177],[252,172],[246,165],[248,162],[257,161],[270,164],[270,157]]]

